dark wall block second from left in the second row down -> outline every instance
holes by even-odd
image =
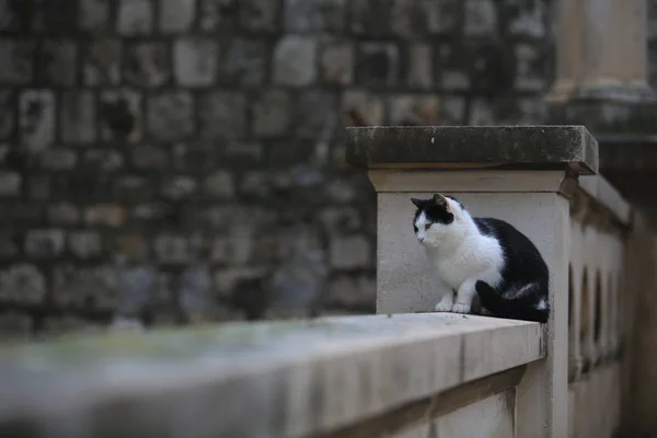
[[[78,81],[78,46],[70,39],[46,39],[41,49],[38,80],[47,85],[72,87]]]

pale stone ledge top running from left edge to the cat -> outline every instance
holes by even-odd
[[[538,360],[543,342],[537,323],[426,313],[18,345],[0,349],[0,435],[307,436]]]

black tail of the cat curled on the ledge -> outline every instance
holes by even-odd
[[[544,308],[539,308],[533,302],[529,302],[527,293],[510,299],[505,298],[482,280],[479,280],[474,288],[480,296],[482,306],[495,316],[535,321],[543,324],[548,322],[550,307],[546,302]]]

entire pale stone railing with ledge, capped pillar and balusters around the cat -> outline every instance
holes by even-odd
[[[379,315],[5,347],[0,436],[611,436],[630,211],[596,175],[588,131],[347,134],[378,194]],[[531,238],[550,267],[548,324],[426,313],[439,290],[408,198],[436,192]]]

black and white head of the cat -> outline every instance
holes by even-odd
[[[463,205],[451,196],[435,194],[427,199],[411,198],[417,207],[413,230],[417,240],[427,246],[440,246],[448,235],[458,231]]]

